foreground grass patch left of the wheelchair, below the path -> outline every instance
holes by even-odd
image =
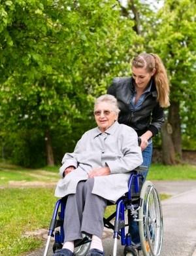
[[[21,255],[42,245],[41,239],[24,237],[25,231],[48,228],[53,189],[0,189],[0,255]]]

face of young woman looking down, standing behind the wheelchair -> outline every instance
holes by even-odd
[[[137,88],[144,90],[154,75],[155,70],[148,73],[144,67],[132,67],[132,77],[135,80]]]

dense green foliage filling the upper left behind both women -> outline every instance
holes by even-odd
[[[20,152],[35,143],[44,158],[49,132],[59,162],[95,125],[93,98],[129,71],[133,22],[120,17],[112,0],[16,0],[0,7],[1,143],[8,147],[7,137],[17,137],[14,161],[42,165],[33,147],[29,155]]]

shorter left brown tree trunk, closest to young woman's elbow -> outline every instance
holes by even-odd
[[[172,126],[169,122],[165,122],[161,128],[162,139],[162,161],[163,164],[173,165],[176,164],[175,149],[172,141]]]

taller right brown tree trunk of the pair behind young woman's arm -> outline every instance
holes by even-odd
[[[172,125],[172,142],[174,144],[176,161],[182,161],[182,137],[180,122],[180,102],[172,101],[169,108],[168,121]]]

